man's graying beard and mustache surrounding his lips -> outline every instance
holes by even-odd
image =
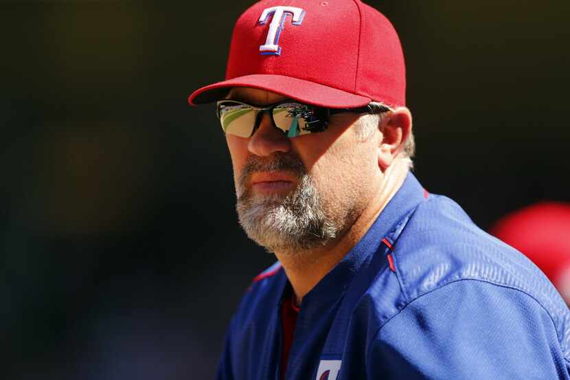
[[[251,194],[246,186],[249,175],[271,170],[293,172],[299,179],[297,187],[285,197]],[[249,157],[236,189],[240,225],[251,240],[269,252],[302,254],[338,234],[338,226],[326,216],[310,175],[292,153],[275,155],[271,161]]]

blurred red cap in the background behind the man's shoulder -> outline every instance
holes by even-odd
[[[527,206],[503,216],[490,232],[532,260],[570,304],[570,204]]]

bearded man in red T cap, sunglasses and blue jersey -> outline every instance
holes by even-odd
[[[570,379],[570,313],[529,260],[409,172],[391,23],[358,0],[255,3],[217,101],[240,224],[278,262],[218,379]]]

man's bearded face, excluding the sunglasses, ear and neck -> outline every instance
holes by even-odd
[[[234,88],[229,98],[274,104],[283,96]],[[321,133],[288,138],[264,113],[251,137],[227,135],[240,224],[271,252],[299,254],[341,236],[378,190],[376,130],[363,141],[354,113],[330,118]]]

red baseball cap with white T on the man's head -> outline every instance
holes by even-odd
[[[255,3],[238,19],[226,80],[198,89],[192,105],[253,87],[330,108],[405,105],[400,39],[388,19],[359,0]]]

